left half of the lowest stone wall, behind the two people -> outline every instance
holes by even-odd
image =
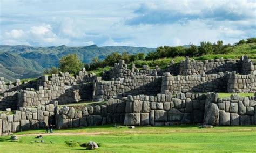
[[[55,129],[76,128],[123,123],[125,103],[110,99],[107,105],[85,106],[79,110],[74,107],[60,108],[55,104],[32,108],[20,108],[15,114],[0,114],[0,136],[23,130],[45,128],[52,124]]]

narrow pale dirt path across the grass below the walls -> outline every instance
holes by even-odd
[[[18,136],[37,136],[37,135],[101,135],[111,134],[110,132],[72,132],[72,133],[33,133],[33,134],[21,134]]]

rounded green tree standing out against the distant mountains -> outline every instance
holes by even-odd
[[[83,64],[78,59],[77,54],[69,54],[61,57],[61,59],[59,60],[59,70],[62,72],[77,74],[82,66]]]

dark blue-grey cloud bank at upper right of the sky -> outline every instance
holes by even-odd
[[[248,1],[164,1],[142,3],[134,10],[137,14],[126,20],[128,25],[172,24],[179,20],[246,20],[256,18],[256,3]]]

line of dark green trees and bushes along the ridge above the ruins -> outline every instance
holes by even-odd
[[[246,40],[242,39],[234,45],[223,45],[223,41],[219,40],[214,43],[203,41],[200,42],[199,46],[193,44],[190,44],[188,47],[160,46],[156,48],[156,50],[147,53],[147,55],[144,53],[129,54],[127,52],[123,52],[120,54],[118,52],[113,52],[110,55],[107,55],[104,60],[99,60],[98,57],[95,57],[89,64],[83,64],[76,54],[69,54],[60,58],[59,68],[52,67],[51,69],[46,69],[44,70],[44,74],[57,74],[59,71],[77,74],[83,66],[87,71],[92,71],[106,66],[112,67],[114,63],[118,63],[119,60],[131,63],[138,60],[157,60],[164,57],[197,57],[207,54],[227,54],[228,47],[238,46],[245,43],[256,43],[256,38],[248,38]]]

